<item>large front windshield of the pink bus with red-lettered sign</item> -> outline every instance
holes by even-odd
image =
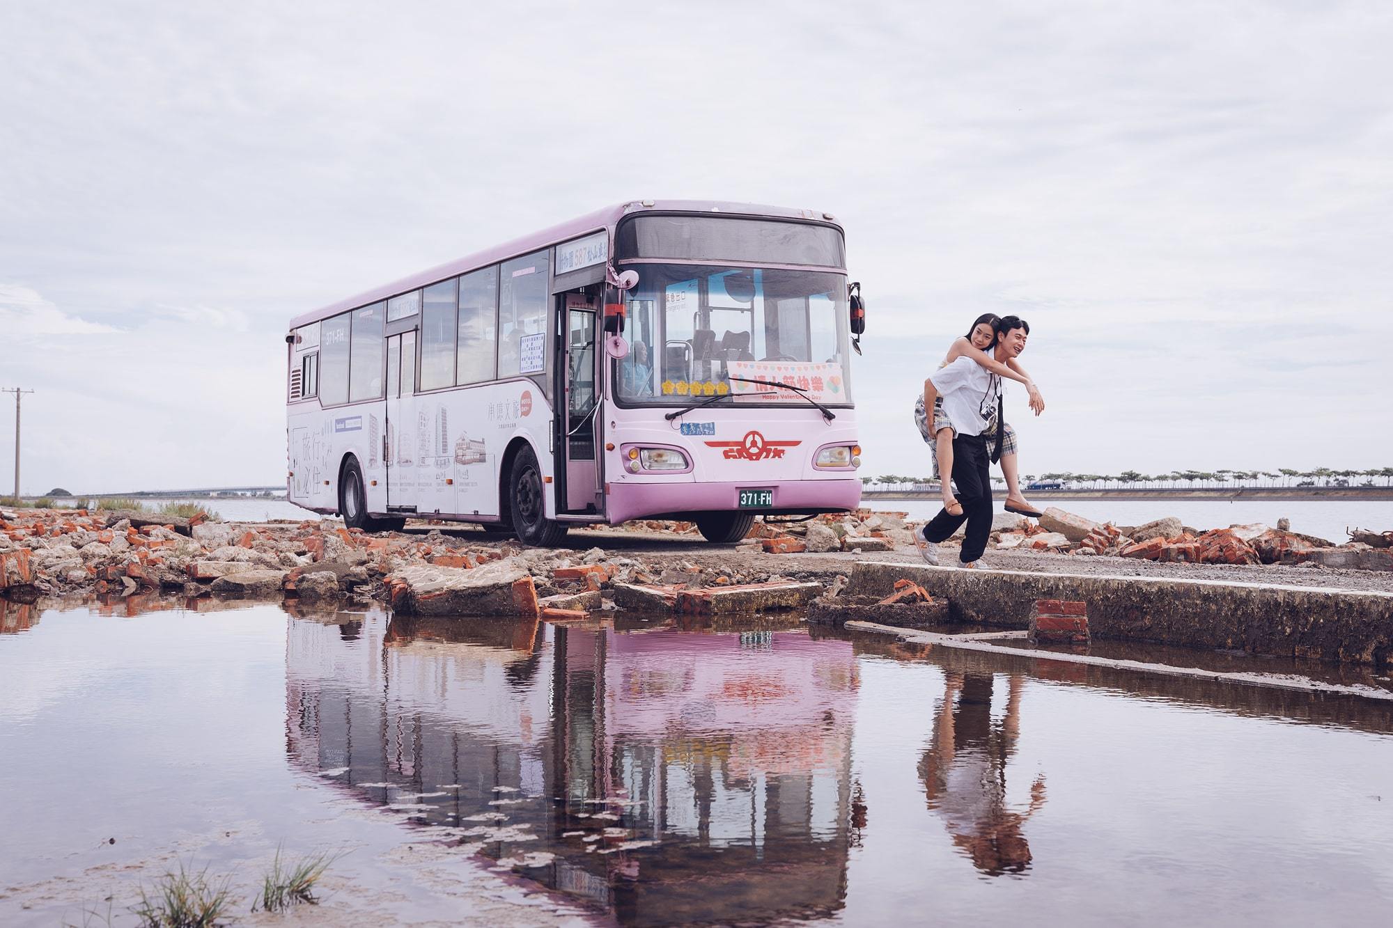
[[[630,354],[616,361],[620,403],[683,405],[733,393],[733,403],[851,403],[847,279],[822,270],[632,263],[624,294]]]

